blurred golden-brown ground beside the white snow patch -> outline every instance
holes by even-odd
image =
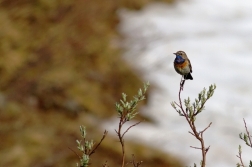
[[[116,117],[121,93],[131,96],[143,82],[122,59],[118,11],[138,11],[151,1],[0,1],[0,166],[76,166],[69,148],[77,152],[80,125],[89,139],[100,140],[101,122]],[[91,166],[120,164],[115,137],[109,131]],[[127,141],[127,158],[133,153],[144,166],[181,164]]]

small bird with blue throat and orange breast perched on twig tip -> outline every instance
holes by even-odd
[[[177,51],[174,53],[176,58],[174,60],[174,68],[180,75],[184,76],[184,79],[193,79],[192,73],[192,65],[190,60],[186,56],[186,53],[183,51]]]

